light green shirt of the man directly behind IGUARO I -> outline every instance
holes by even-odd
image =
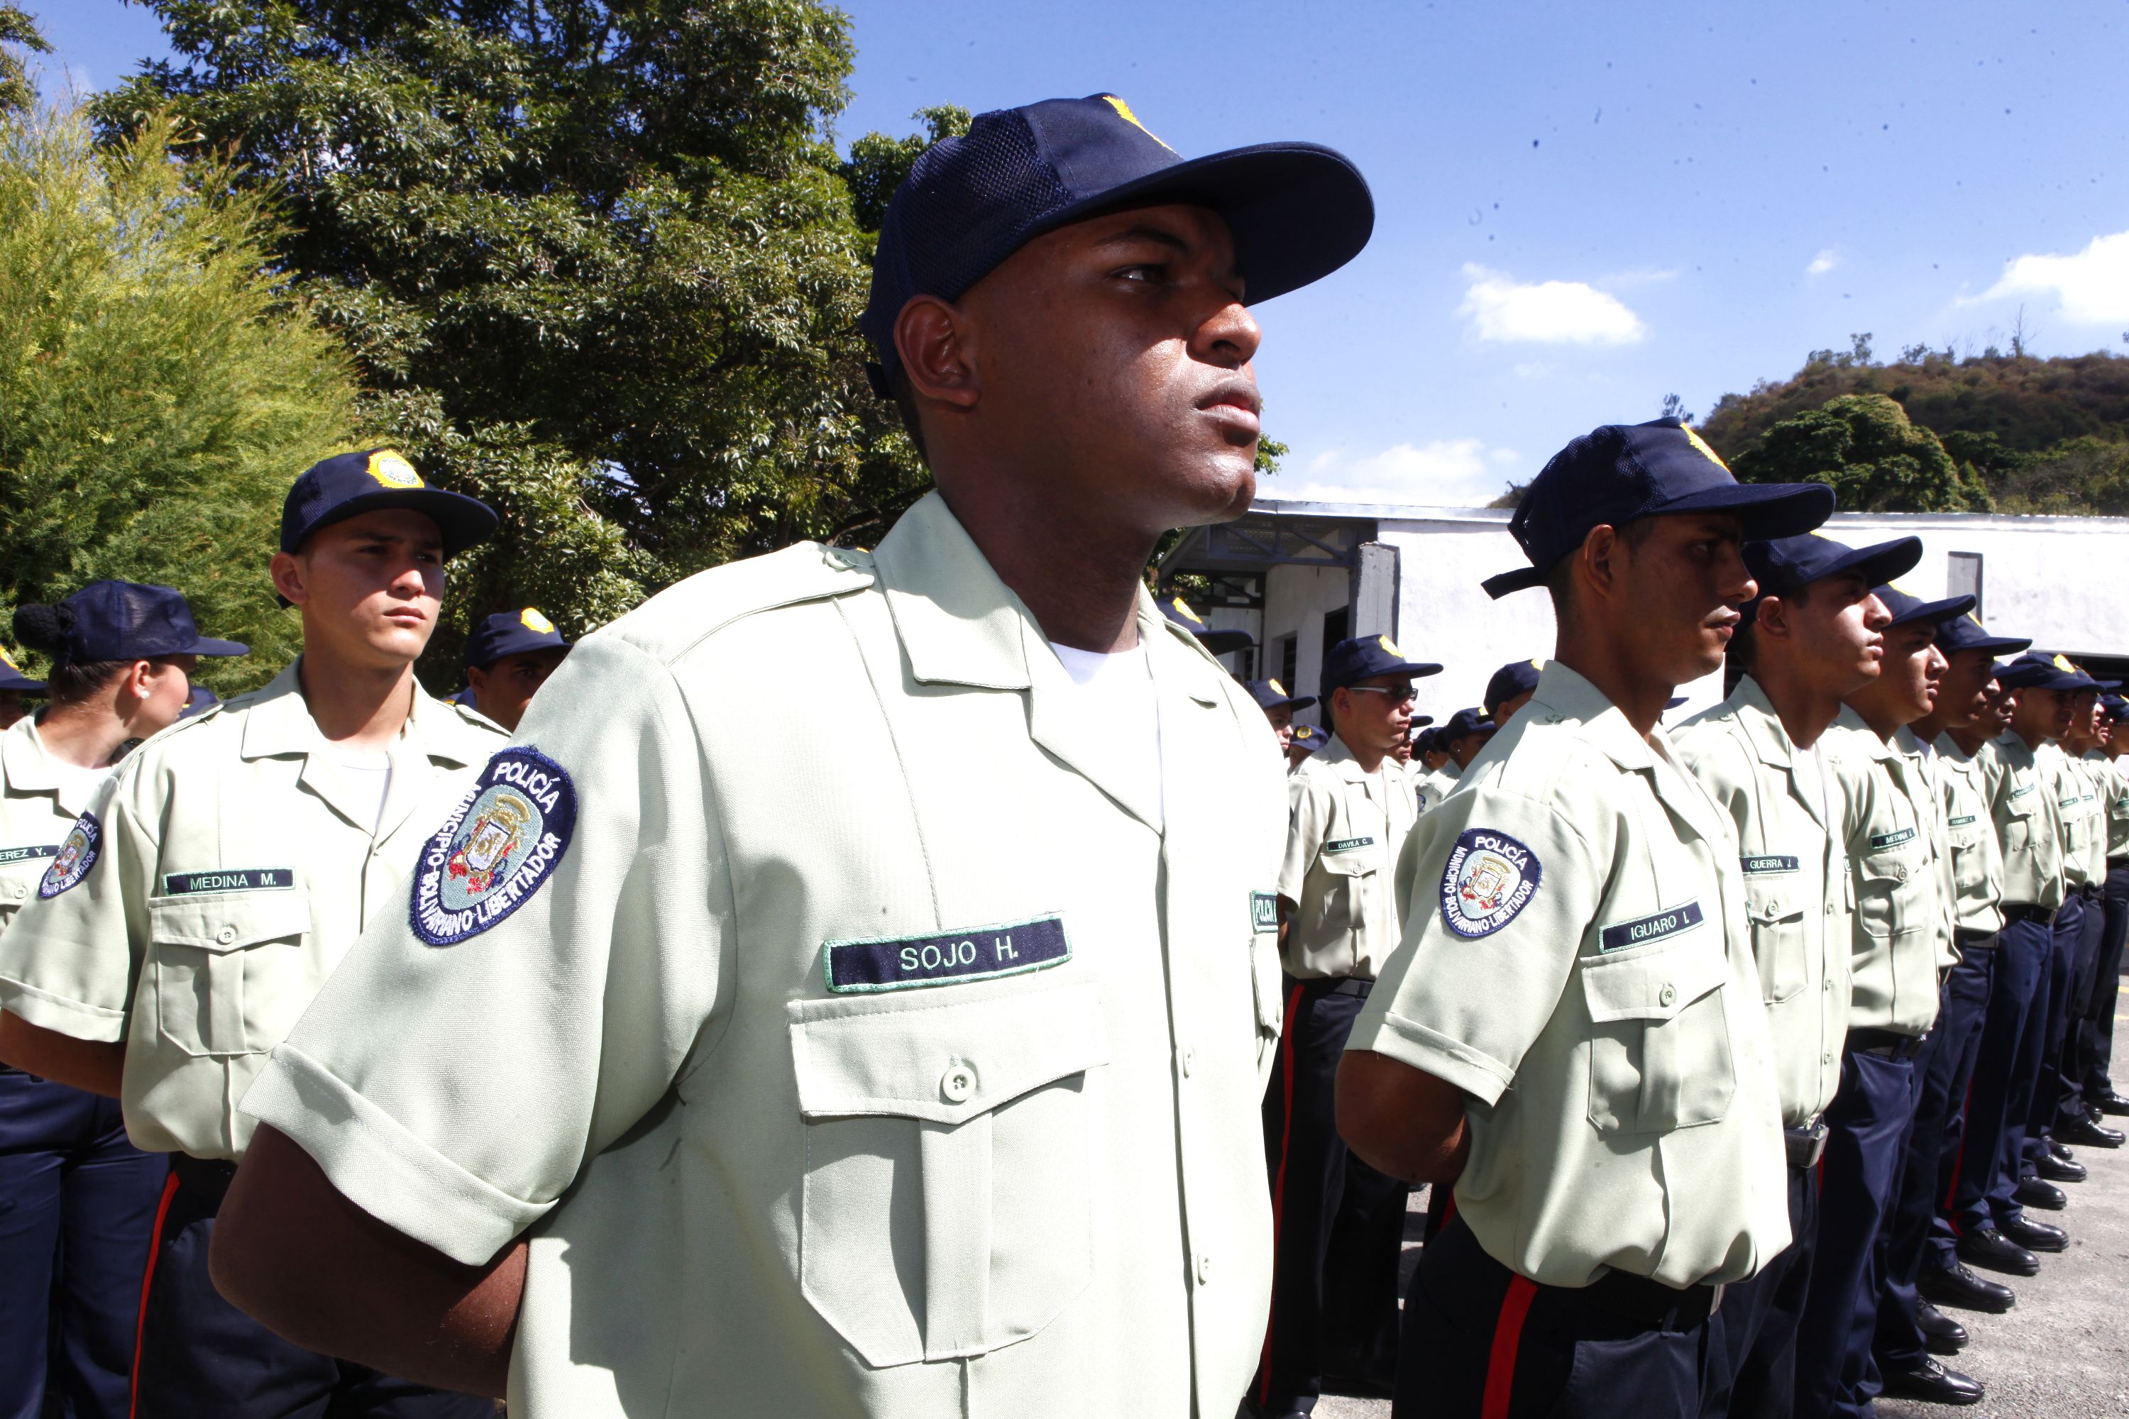
[[[1848,1038],[1846,800],[1752,677],[1680,725],[1676,745],[1737,832],[1782,1121],[1803,1128],[1833,1102]]]

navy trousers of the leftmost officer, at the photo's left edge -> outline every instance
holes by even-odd
[[[126,1419],[166,1170],[115,1098],[0,1068],[0,1419]]]

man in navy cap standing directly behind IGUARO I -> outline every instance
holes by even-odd
[[[1752,959],[1773,1036],[1788,1130],[1790,1247],[1731,1287],[1718,1317],[1727,1370],[1705,1413],[1788,1415],[1818,1240],[1822,1121],[1848,1034],[1848,804],[1820,738],[1842,696],[1878,677],[1893,619],[1871,587],[1910,570],[1918,538],[1852,549],[1818,534],[1750,542],[1759,600],[1729,647],[1731,696],[1678,728],[1678,753],[1729,815],[1744,870]]]

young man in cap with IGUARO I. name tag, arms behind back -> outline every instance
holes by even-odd
[[[1737,834],[1656,717],[1756,591],[1739,487],[1676,419],[1573,440],[1509,530],[1558,649],[1414,828],[1405,938],[1354,1025],[1339,1128],[1454,1215],[1405,1296],[1399,1413],[1697,1415],[1724,1283],[1788,1247],[1782,1104]],[[1573,1383],[1569,1383],[1573,1376]]]

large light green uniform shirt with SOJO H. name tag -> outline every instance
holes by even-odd
[[[528,1236],[511,1419],[1228,1419],[1284,783],[1137,625],[1158,800],[937,494],[662,591],[519,725],[575,828],[511,915],[434,947],[400,887],[245,1108],[460,1262]]]

